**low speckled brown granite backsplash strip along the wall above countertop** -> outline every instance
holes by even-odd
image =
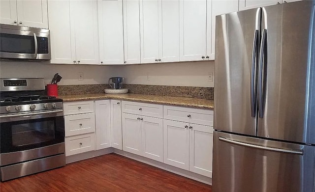
[[[105,88],[110,87],[108,84],[58,85],[58,94],[78,95],[104,93]],[[136,94],[214,99],[214,87],[124,84],[124,88],[129,89],[128,93]]]

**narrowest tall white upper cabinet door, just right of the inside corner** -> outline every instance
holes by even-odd
[[[126,64],[140,63],[139,0],[123,0]]]

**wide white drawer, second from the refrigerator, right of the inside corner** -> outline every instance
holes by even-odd
[[[150,117],[163,118],[163,105],[122,101],[122,111]]]

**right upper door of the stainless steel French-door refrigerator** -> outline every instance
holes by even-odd
[[[305,124],[314,2],[262,8],[258,137],[315,143],[315,131]]]

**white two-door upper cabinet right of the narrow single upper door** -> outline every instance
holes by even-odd
[[[179,0],[140,1],[141,63],[179,61]]]

